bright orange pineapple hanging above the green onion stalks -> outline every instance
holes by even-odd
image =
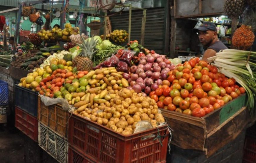
[[[246,50],[250,48],[254,42],[256,29],[256,14],[252,11],[251,15],[245,17],[245,21],[240,28],[238,28],[232,37],[232,44],[240,49]]]

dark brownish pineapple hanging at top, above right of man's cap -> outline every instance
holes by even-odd
[[[231,18],[237,18],[243,13],[245,0],[226,0],[224,4],[225,14]]]

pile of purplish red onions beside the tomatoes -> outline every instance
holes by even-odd
[[[164,55],[149,53],[140,58],[138,66],[133,65],[130,68],[130,74],[123,73],[123,78],[130,84],[128,89],[149,94],[156,90],[158,85],[162,85],[162,81],[167,79],[167,73],[174,68],[175,66]]]

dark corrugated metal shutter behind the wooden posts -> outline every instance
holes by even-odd
[[[140,42],[142,10],[132,10],[131,40]],[[121,15],[111,16],[112,31],[124,29],[128,31],[129,11],[122,12]],[[154,50],[157,53],[164,51],[164,8],[148,9],[146,13],[146,27],[144,47]]]

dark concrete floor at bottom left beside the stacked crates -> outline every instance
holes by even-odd
[[[14,127],[0,124],[0,162],[24,163],[24,135]]]

